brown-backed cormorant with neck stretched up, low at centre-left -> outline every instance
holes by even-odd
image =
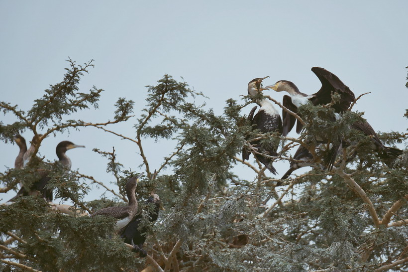
[[[131,177],[126,182],[126,193],[129,203],[125,207],[107,207],[99,211],[96,211],[91,216],[102,215],[106,217],[113,217],[116,221],[116,229],[120,230],[124,228],[137,214],[137,200],[136,200],[136,187],[139,179],[143,176],[143,172],[137,177]]]

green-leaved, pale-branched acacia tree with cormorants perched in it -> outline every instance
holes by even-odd
[[[63,121],[73,112],[98,107],[102,92],[94,87],[81,93],[78,88],[92,61],[81,66],[69,60],[69,64],[64,80],[51,85],[30,110],[0,102],[4,113],[18,118],[13,124],[0,123],[2,141],[11,141],[24,130],[44,134],[26,167],[0,174],[0,192],[16,190],[20,181],[29,186],[36,169],[48,168],[52,173],[48,186],[56,198],[74,203],[69,211],[56,210],[58,205],[27,196],[2,205],[2,271],[408,269],[407,150],[392,164],[384,163],[373,150],[371,138],[350,127],[361,120],[361,113],[347,111],[332,121],[329,107],[305,105],[299,108],[303,119],[297,116],[306,128],[299,138],[262,134],[252,131],[241,114],[251,98],[245,97],[242,103],[228,100],[223,114],[216,115],[191,102],[202,93],[165,75],[156,86],[147,86],[146,106],[138,118],[131,116],[133,101],[120,98],[113,121]],[[109,129],[119,122],[133,126],[134,134]],[[117,161],[114,148],[95,151],[108,159],[106,169],[115,188],[78,171],[63,174],[54,163],[35,156],[46,136],[84,127],[127,140],[143,160],[147,174],[139,183],[137,198],[144,223],[149,224],[149,207],[144,207],[143,200],[152,190],[166,209],[149,231],[147,258],[132,253],[114,233],[113,219],[86,216],[127,202],[124,184],[135,173]],[[340,135],[349,139],[330,171],[321,167],[328,152],[328,146],[316,140],[322,134],[333,141]],[[398,132],[380,133],[379,137],[387,145],[407,142],[407,134]],[[151,169],[152,158],[145,153],[144,142],[149,138],[174,144],[157,169]],[[303,145],[313,155],[312,169],[276,187],[279,180],[270,177],[258,161],[239,158],[243,146],[256,152],[251,145],[254,140],[280,141],[274,159],[287,160],[288,165],[293,160],[291,150]],[[254,179],[234,174],[236,164],[246,167]],[[171,174],[163,173],[165,168]],[[113,193],[113,199],[84,202],[89,181]]]

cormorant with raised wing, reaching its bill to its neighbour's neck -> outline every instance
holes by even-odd
[[[312,95],[301,93],[293,82],[280,80],[274,85],[266,86],[265,89],[272,89],[276,92],[286,91],[290,96],[283,97],[283,106],[294,113],[298,113],[298,108],[306,103],[313,105],[325,105],[331,102],[331,94],[337,93],[340,95],[340,101],[331,105],[336,113],[346,111],[351,102],[355,100],[354,93],[333,73],[324,68],[313,67],[311,71],[316,74],[321,82],[320,90]],[[283,136],[287,136],[295,125],[296,118],[283,110]],[[299,134],[303,129],[303,125],[298,122],[296,132]]]

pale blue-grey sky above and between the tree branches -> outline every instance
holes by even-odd
[[[98,110],[85,110],[68,119],[112,120],[119,97],[135,101],[135,114],[139,114],[145,105],[145,86],[155,85],[164,74],[184,79],[203,92],[208,99],[197,102],[221,114],[225,100],[240,101],[240,95],[247,94],[248,82],[257,77],[270,76],[265,85],[289,80],[301,92],[315,93],[320,82],[310,68],[319,66],[337,75],[356,97],[371,92],[353,109],[365,112],[375,131],[406,132],[407,10],[406,0],[0,0],[0,101],[29,110],[50,84],[62,81],[68,66],[65,60],[70,57],[79,64],[95,60],[80,89],[86,92],[95,85],[104,92]],[[282,101],[282,93],[265,94]],[[244,108],[242,115],[252,107]],[[12,115],[1,115],[0,120],[4,124],[16,121]],[[109,128],[134,137],[135,123],[131,120]],[[22,136],[28,142],[32,133]],[[114,146],[125,168],[142,170],[136,145],[93,128],[46,138],[41,156],[57,159],[55,146],[62,140],[86,145],[67,152],[73,169],[115,190],[116,186],[109,185],[112,176],[105,172],[107,161],[93,148],[111,151]],[[153,169],[171,147],[166,141],[145,141]],[[0,142],[0,150],[0,171],[13,167],[17,146]],[[289,162],[274,166],[280,177]],[[236,167],[236,172],[245,179],[254,178],[243,167]],[[93,187],[86,200],[99,198],[103,192]],[[14,194],[1,194],[0,202]]]

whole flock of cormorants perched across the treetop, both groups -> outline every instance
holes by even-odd
[[[306,103],[311,103],[312,105],[328,105],[333,108],[336,115],[339,115],[347,110],[349,110],[350,104],[355,101],[355,96],[353,92],[344,85],[341,80],[332,74],[331,72],[319,68],[313,67],[311,69],[318,79],[320,80],[322,86],[320,90],[312,95],[306,95],[301,93],[299,89],[293,82],[280,80],[274,85],[262,87],[262,81],[264,78],[255,78],[248,83],[248,94],[253,97],[253,102],[258,104],[261,108],[256,115],[255,111],[257,106],[255,106],[248,115],[248,120],[252,124],[253,130],[259,130],[262,133],[277,133],[280,136],[287,136],[288,133],[293,129],[297,121],[296,132],[299,134],[303,130],[302,123],[297,120],[296,115],[302,118],[298,114],[298,108]],[[259,93],[263,90],[272,89],[276,92],[286,91],[290,96],[285,95],[283,98],[283,109],[282,117],[279,115],[278,111],[272,105],[269,99],[257,99]],[[331,95],[336,93],[339,95],[340,99],[336,103],[331,103]],[[338,118],[338,117],[336,117]],[[375,150],[384,158],[395,158],[402,153],[402,150],[384,146],[381,140],[378,138],[377,134],[373,128],[366,121],[355,122],[352,126],[353,129],[362,132],[363,134],[370,136],[371,141],[374,143]],[[20,150],[15,159],[14,167],[16,169],[21,169],[26,166],[26,164],[31,159],[31,156],[36,148],[36,144],[42,135],[34,136],[31,140],[30,147],[27,149],[25,139],[17,135],[14,137],[14,141],[19,146]],[[327,139],[319,139],[321,143],[327,143]],[[254,140],[252,143],[252,148],[244,147],[242,151],[242,159],[249,159],[250,153],[263,164],[269,171],[273,174],[277,174],[275,167],[272,165],[274,157],[278,155],[278,143],[262,143],[260,139]],[[336,159],[338,150],[342,145],[349,144],[347,140],[341,139],[339,144],[333,145],[330,149],[329,156],[324,162],[324,167],[331,169]],[[77,145],[70,141],[61,141],[56,147],[56,153],[59,158],[59,163],[68,172],[71,169],[71,160],[66,155],[66,151],[76,147],[85,147],[83,145]],[[293,161],[291,161],[290,169],[285,173],[282,179],[286,179],[289,175],[296,169],[310,165],[312,155],[303,145],[300,145],[296,151]],[[17,195],[10,199],[9,201],[15,201],[19,196],[34,195],[40,193],[42,197],[51,202],[53,200],[52,189],[47,189],[46,185],[50,180],[48,170],[37,170],[39,173],[39,178],[37,181],[33,182],[30,188],[24,188],[20,183],[20,190]],[[138,176],[134,176],[128,179],[126,183],[126,193],[128,197],[128,205],[125,207],[107,207],[99,211],[96,211],[91,216],[109,216],[115,218],[116,229],[119,231],[120,236],[124,239],[125,243],[131,244],[135,252],[139,252],[141,257],[146,256],[146,252],[142,249],[143,243],[146,240],[147,227],[143,226],[139,228],[142,221],[142,215],[138,211],[137,199],[135,196],[135,191],[139,179],[142,177],[143,173]],[[280,185],[278,182],[277,185]],[[158,217],[159,208],[161,208],[160,198],[157,194],[151,193],[148,200],[145,202],[146,205],[149,203],[154,204],[154,209],[148,214],[150,216],[150,221],[155,222]]]

